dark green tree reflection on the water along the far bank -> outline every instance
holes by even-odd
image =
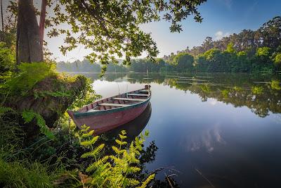
[[[98,80],[98,75],[86,75]],[[106,81],[135,83],[157,83],[169,85],[182,91],[198,94],[202,101],[216,99],[235,108],[247,106],[253,113],[266,117],[270,112],[281,113],[280,76],[256,76],[244,74],[204,75],[147,75],[141,73],[106,74]]]

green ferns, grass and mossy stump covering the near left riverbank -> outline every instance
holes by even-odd
[[[13,52],[4,45],[1,44],[0,56],[5,57],[5,62],[13,67],[13,56],[8,56]],[[79,108],[99,97],[91,89],[89,80],[82,76],[58,74],[52,63],[21,63],[17,72],[12,70],[8,68],[1,75],[1,186],[146,187],[154,179],[154,173],[148,174],[143,180],[141,176],[138,176],[138,180],[132,176],[142,170],[139,158],[143,153],[143,135],[130,142],[127,150],[126,132],[122,131],[119,139],[115,140],[117,146],[112,146],[115,154],[106,155],[108,149],[105,149],[105,144],[95,145],[99,136],[94,137],[93,131],[88,131],[89,127],[85,126],[79,133],[75,125],[68,121],[62,98],[72,98],[73,103],[68,108]],[[84,89],[77,91],[67,87],[77,80],[85,83]],[[41,84],[50,88],[43,89],[39,87]],[[41,108],[51,108],[48,98],[56,99],[58,104],[55,113],[60,119],[53,123],[51,130],[46,123],[52,121],[47,122],[38,109],[37,112],[35,109],[20,111],[16,107],[27,96],[35,102],[46,100],[46,106],[41,104]],[[15,111],[15,108],[18,110]],[[40,134],[32,137],[27,127],[20,126],[20,119],[25,126],[32,122],[38,125],[37,132]],[[148,136],[148,132],[145,136]],[[82,159],[89,159],[81,160],[80,155]],[[87,167],[89,163],[91,165]],[[84,169],[89,175],[83,173]]]

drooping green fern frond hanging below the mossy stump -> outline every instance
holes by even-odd
[[[49,139],[53,139],[53,133],[48,130],[44,118],[39,113],[34,113],[34,111],[22,112],[22,119],[25,120],[25,123],[32,122],[34,118],[37,120],[37,125],[40,127],[41,133],[45,134]]]

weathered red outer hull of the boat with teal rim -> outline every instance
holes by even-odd
[[[94,113],[77,113],[67,111],[74,123],[81,129],[82,125],[90,127],[90,130],[95,130],[95,134],[101,134],[112,130],[115,127],[129,123],[137,118],[148,106],[149,100],[136,106],[127,108],[115,108],[114,111],[99,111]]]

